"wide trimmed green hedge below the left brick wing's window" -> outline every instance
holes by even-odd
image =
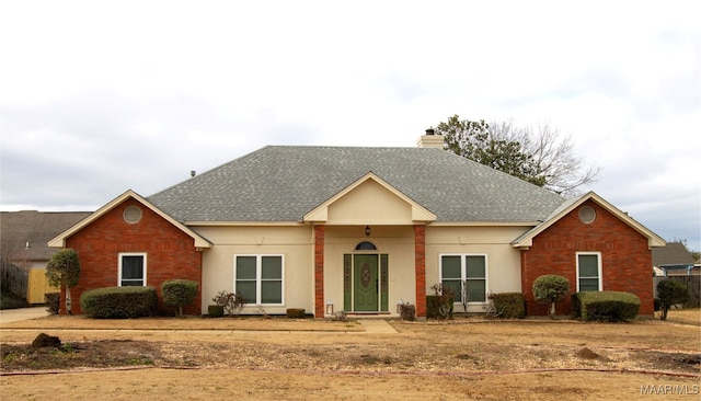
[[[156,316],[157,299],[153,287],[97,288],[82,294],[80,309],[89,318],[140,318]]]

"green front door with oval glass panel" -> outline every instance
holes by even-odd
[[[353,267],[353,310],[377,312],[380,290],[378,255],[356,254]]]

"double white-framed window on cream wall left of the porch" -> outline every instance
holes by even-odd
[[[285,299],[283,255],[234,255],[233,291],[246,303],[283,305]]]

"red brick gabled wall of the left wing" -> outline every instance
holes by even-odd
[[[136,205],[142,211],[141,219],[135,225],[127,224],[122,217],[129,205]],[[76,314],[81,313],[80,296],[83,291],[118,286],[120,252],[147,254],[146,284],[158,290],[159,309],[162,312],[172,313],[173,308],[163,305],[161,284],[174,278],[199,283],[197,297],[193,305],[183,308],[183,312],[202,312],[202,252],[195,250],[189,236],[134,198],[125,200],[68,238],[66,247],[74,249],[80,261],[80,280],[71,288]],[[61,313],[66,313],[64,302]]]

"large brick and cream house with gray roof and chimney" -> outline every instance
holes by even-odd
[[[425,135],[417,148],[265,147],[149,197],[127,191],[49,245],[78,251],[76,297],[194,279],[187,313],[229,290],[244,313],[321,318],[333,303],[397,316],[411,302],[425,317],[433,285],[464,283],[469,312],[489,293],[522,291],[528,313],[545,314],[531,291],[542,274],[634,293],[653,313],[662,238],[594,193],[565,199],[441,146]],[[568,312],[567,299],[558,313]]]

